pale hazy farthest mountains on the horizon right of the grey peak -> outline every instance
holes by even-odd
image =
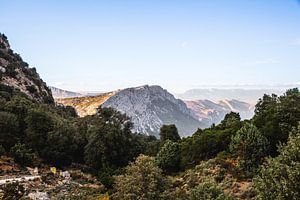
[[[210,101],[219,101],[223,99],[237,99],[239,101],[256,103],[264,94],[282,94],[287,88],[202,88],[188,90],[176,97],[184,100],[207,99]]]

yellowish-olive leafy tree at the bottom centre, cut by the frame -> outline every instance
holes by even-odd
[[[124,175],[116,177],[116,200],[156,200],[168,186],[162,171],[155,165],[154,158],[140,155],[131,163]]]

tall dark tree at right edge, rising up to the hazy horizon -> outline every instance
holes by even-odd
[[[277,146],[286,143],[289,132],[300,121],[300,92],[297,88],[277,95],[264,95],[255,107],[254,125],[270,142],[270,155],[276,156]]]

